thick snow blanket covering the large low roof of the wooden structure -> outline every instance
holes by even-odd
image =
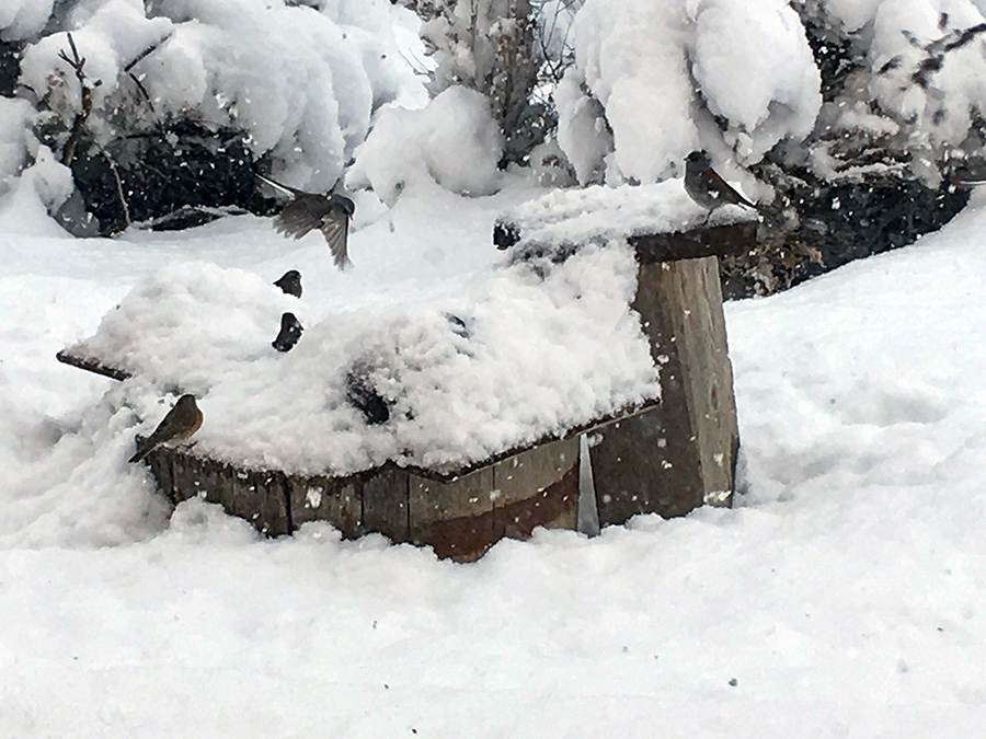
[[[632,250],[615,240],[562,264],[488,269],[454,298],[316,316],[259,275],[186,262],[148,276],[70,351],[129,372],[148,428],[163,392],[194,393],[196,451],[216,459],[293,474],[388,461],[443,472],[656,399],[629,308],[635,279]],[[305,326],[287,354],[271,346],[284,312]],[[357,407],[367,395],[386,422]]]

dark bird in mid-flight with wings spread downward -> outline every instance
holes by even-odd
[[[274,228],[277,231],[286,236],[300,239],[318,229],[325,236],[335,266],[345,269],[351,264],[346,242],[349,236],[349,221],[356,212],[356,204],[352,199],[331,189],[324,195],[306,193],[282,185],[262,174],[257,174],[256,178],[293,197],[274,219]]]

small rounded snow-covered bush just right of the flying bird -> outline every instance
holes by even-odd
[[[380,111],[346,184],[371,187],[388,205],[433,181],[461,195],[489,195],[497,186],[502,151],[486,97],[452,86],[421,109]]]

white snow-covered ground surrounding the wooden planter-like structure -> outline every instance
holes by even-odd
[[[973,737],[986,718],[986,199],[727,307],[748,493],[479,563],[169,520],[118,385],[57,363],[147,274],[305,275],[313,312],[452,291],[530,197],[74,241],[0,203],[0,736]],[[360,215],[362,213],[362,215]],[[376,220],[375,220],[376,219]]]

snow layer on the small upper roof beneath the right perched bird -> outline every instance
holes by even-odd
[[[688,197],[681,180],[667,180],[635,187],[552,190],[505,212],[498,222],[514,227],[519,236],[515,249],[525,252],[757,220],[755,210],[735,205],[707,213]]]

